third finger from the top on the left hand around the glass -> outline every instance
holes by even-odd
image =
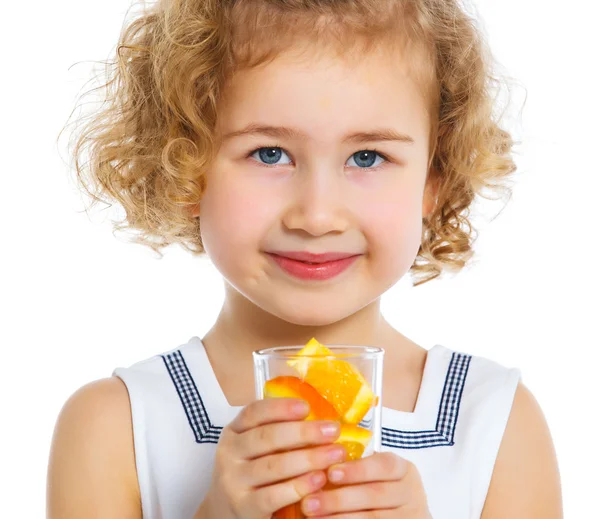
[[[313,470],[325,470],[346,457],[341,445],[311,447],[263,456],[244,463],[241,478],[244,486],[258,487],[293,478]]]

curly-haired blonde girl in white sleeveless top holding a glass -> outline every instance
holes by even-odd
[[[561,517],[519,370],[426,350],[380,312],[407,273],[464,267],[475,196],[515,170],[458,0],[161,0],[117,54],[82,185],[137,241],[207,253],[226,298],[202,339],[68,400],[48,517]],[[253,401],[251,352],[312,336],[385,349],[383,452],[344,461],[302,401]]]

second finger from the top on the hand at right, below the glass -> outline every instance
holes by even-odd
[[[317,492],[302,501],[302,511],[308,517],[378,509],[398,508],[405,496],[398,481],[377,481]],[[337,516],[336,516],[337,517]]]

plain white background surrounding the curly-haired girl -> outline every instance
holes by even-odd
[[[492,49],[521,87],[523,141],[509,206],[478,224],[477,260],[385,297],[387,317],[429,348],[522,370],[549,422],[566,517],[596,516],[600,484],[597,216],[598,9],[591,0],[478,0]],[[0,480],[2,515],[43,517],[56,417],[78,387],[202,334],[221,281],[182,249],[162,260],[83,212],[63,140],[93,65],[112,57],[128,0],[10,2],[0,31]],[[6,10],[8,8],[8,11]],[[594,11],[595,12],[592,12]],[[77,62],[82,62],[73,66]],[[98,70],[96,65],[94,70]],[[482,206],[483,215],[500,205]]]

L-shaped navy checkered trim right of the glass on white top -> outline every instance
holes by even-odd
[[[381,444],[399,449],[427,449],[429,447],[454,445],[454,431],[471,357],[471,355],[463,353],[452,353],[435,429],[430,431],[398,431],[383,427]]]

